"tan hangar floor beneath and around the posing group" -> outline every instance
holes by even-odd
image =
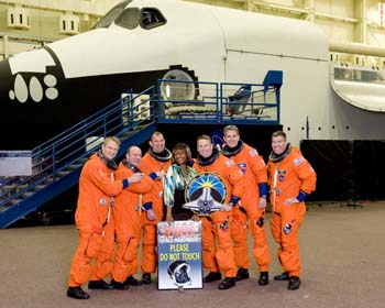
[[[66,279],[77,244],[73,224],[0,230],[0,307],[349,307],[385,302],[385,202],[364,207],[309,205],[300,232],[301,287],[286,282],[257,286],[252,277],[230,290],[218,284],[202,289],[158,290],[156,284],[129,290],[90,290],[89,300],[66,297]],[[270,215],[267,215],[270,219]],[[270,232],[268,232],[270,235]],[[280,273],[270,235],[271,276]]]

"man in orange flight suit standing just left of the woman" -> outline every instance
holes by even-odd
[[[166,141],[161,132],[152,133],[150,148],[144,154],[139,168],[144,174],[160,174],[152,189],[143,195],[142,215],[142,283],[151,284],[151,274],[156,272],[156,223],[163,218],[163,177],[172,164],[172,152],[166,148]]]

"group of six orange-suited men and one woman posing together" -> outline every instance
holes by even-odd
[[[283,131],[272,134],[267,165],[254,147],[241,140],[238,127],[226,127],[223,140],[223,147],[217,148],[209,135],[200,135],[198,155],[193,160],[188,145],[178,143],[172,153],[164,135],[154,132],[143,157],[140,147],[130,146],[117,166],[114,157],[121,142],[116,136],[106,138],[100,151],[84,165],[79,178],[75,212],[79,240],[69,271],[68,297],[88,299],[89,294],[81,288],[87,282],[88,289],[125,290],[151,284],[157,266],[156,223],[164,219],[201,221],[202,263],[209,271],[204,283],[220,280],[219,289],[249,278],[250,229],[258,285],[267,285],[267,196],[271,232],[284,270],[274,279],[288,280],[290,290],[299,288],[298,231],[306,213],[304,201],[316,188],[315,170]],[[180,207],[188,183],[204,173],[218,176],[227,191],[220,210],[208,216]],[[134,277],[139,267],[141,280]],[[111,276],[110,283],[105,280],[107,276]]]

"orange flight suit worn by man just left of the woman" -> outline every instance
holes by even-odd
[[[150,151],[144,154],[139,168],[144,174],[151,174],[153,172],[161,172],[166,174],[168,167],[172,164],[172,154],[168,150],[165,150],[169,155],[169,158],[155,157],[150,154]],[[152,186],[150,193],[143,195],[143,205],[152,204],[152,209],[155,212],[155,220],[147,219],[146,213],[142,212],[142,273],[155,273],[157,264],[156,255],[156,223],[162,221],[163,218],[163,177],[156,179]]]

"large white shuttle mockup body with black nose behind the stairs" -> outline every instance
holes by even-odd
[[[385,114],[339,98],[330,65],[326,35],[305,21],[177,0],[123,1],[95,29],[0,63],[1,130],[29,134],[25,142],[10,135],[2,147],[32,147],[175,67],[216,82],[258,84],[267,70],[282,70],[280,123],[296,145],[383,139]]]

